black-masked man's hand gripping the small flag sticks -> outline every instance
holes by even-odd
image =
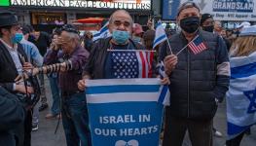
[[[175,68],[178,62],[178,57],[176,55],[167,55],[165,56],[165,73],[166,75],[170,75],[171,71]]]

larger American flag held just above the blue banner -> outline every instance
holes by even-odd
[[[151,78],[154,52],[110,50],[111,76],[116,79]]]

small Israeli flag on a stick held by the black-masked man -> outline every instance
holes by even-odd
[[[159,44],[161,44],[162,42],[164,42],[165,40],[167,40],[167,36],[165,34],[165,28],[161,20],[159,20],[156,27],[156,35],[153,43],[153,49],[157,47]]]

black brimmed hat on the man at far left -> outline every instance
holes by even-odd
[[[17,16],[6,10],[0,11],[0,27],[2,26],[12,26],[18,24]]]

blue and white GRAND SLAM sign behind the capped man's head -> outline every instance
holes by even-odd
[[[175,19],[178,7],[187,0],[163,0],[163,19]],[[191,0],[198,3],[201,13],[216,20],[256,20],[256,0]]]

